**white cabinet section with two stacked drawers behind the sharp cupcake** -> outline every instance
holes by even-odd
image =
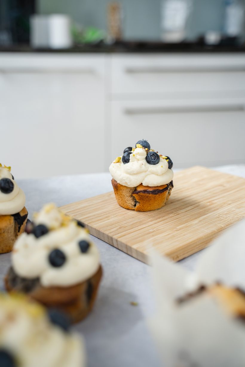
[[[148,139],[174,167],[245,163],[244,54],[111,60],[111,157]]]

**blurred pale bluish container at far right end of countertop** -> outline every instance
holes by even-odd
[[[236,37],[242,33],[244,26],[244,3],[239,0],[225,1],[224,33]]]

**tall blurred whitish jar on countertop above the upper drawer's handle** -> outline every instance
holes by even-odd
[[[180,42],[186,36],[187,19],[191,11],[190,0],[162,0],[161,28],[165,42]]]

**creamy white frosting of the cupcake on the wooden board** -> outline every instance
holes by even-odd
[[[144,148],[136,148],[130,154],[129,163],[114,163],[109,167],[109,171],[120,185],[136,187],[142,183],[144,186],[166,185],[173,179],[173,171],[168,168],[166,159],[160,157],[158,164],[148,164],[145,160],[146,151]]]

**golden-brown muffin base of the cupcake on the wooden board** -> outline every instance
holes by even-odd
[[[162,208],[173,188],[173,181],[162,186],[143,186],[127,187],[120,185],[114,178],[111,180],[116,201],[118,204],[130,210],[150,211]]]

